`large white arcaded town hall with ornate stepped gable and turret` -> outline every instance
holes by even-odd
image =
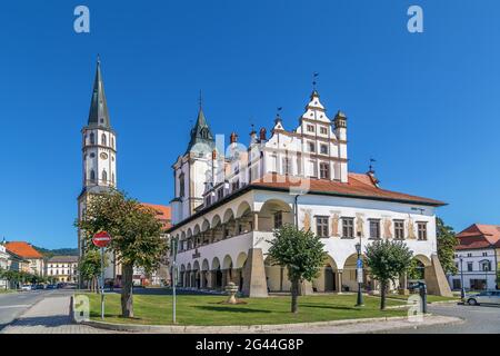
[[[178,284],[221,290],[229,281],[251,297],[289,291],[287,270],[267,256],[283,224],[322,238],[328,259],[303,293],[357,290],[356,244],[402,240],[424,266],[428,290],[450,295],[437,256],[434,199],[380,187],[374,171],[349,171],[348,118],[333,118],[314,89],[294,129],[278,115],[249,145],[213,136],[200,106],[187,150],[172,166],[171,238],[178,240]],[[173,256],[171,256],[173,259]],[[364,270],[364,288],[378,284]],[[406,276],[393,288],[406,289]]]

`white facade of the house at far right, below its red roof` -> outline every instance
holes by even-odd
[[[460,261],[461,257],[461,261]],[[494,248],[460,249],[454,255],[456,275],[448,275],[451,289],[496,289],[497,256]]]

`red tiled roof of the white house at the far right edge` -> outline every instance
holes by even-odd
[[[472,224],[463,231],[457,234],[460,245],[457,249],[474,249],[500,247],[500,226]]]

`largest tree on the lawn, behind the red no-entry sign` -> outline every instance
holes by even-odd
[[[93,195],[84,217],[76,222],[84,234],[87,248],[92,245],[91,239],[96,233],[106,230],[111,235],[108,249],[114,253],[122,266],[123,317],[133,317],[133,267],[151,273],[158,268],[168,249],[161,237],[162,225],[156,215],[153,209],[140,205],[124,192],[112,190]]]

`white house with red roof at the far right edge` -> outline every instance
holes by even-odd
[[[473,224],[457,235],[456,275],[448,275],[452,289],[483,290],[497,288],[500,254],[500,226]]]

